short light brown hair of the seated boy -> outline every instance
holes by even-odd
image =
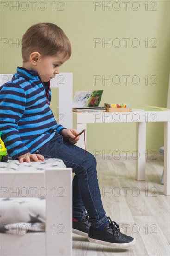
[[[63,30],[53,23],[38,23],[28,28],[22,37],[22,58],[28,62],[32,52],[42,57],[63,54],[71,56],[71,44]]]

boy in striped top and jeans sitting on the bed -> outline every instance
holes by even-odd
[[[39,23],[26,31],[23,66],[0,88],[2,139],[9,155],[21,163],[60,158],[73,169],[74,233],[92,243],[130,247],[135,240],[122,234],[118,224],[105,215],[95,157],[74,145],[78,132],[57,124],[49,107],[50,79],[70,56],[69,39],[55,24]]]

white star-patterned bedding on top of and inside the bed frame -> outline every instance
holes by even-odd
[[[19,163],[18,160],[0,162],[0,170],[45,170],[52,167],[65,168],[61,159],[46,159],[45,162]],[[0,198],[0,233],[26,234],[45,232],[45,198],[10,197]]]

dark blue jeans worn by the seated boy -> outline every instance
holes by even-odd
[[[56,134],[50,141],[34,152],[44,158],[62,159],[67,167],[72,168],[73,178],[73,217],[83,218],[88,212],[91,226],[98,228],[107,222],[103,209],[101,194],[97,180],[96,159],[94,155],[63,141],[60,134]]]

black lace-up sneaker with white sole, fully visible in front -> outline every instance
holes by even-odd
[[[108,218],[108,224],[104,227],[104,230],[98,231],[90,227],[88,233],[88,240],[91,243],[98,243],[101,245],[107,245],[115,248],[126,248],[135,244],[135,239],[131,236],[122,234],[119,229],[119,225]]]

